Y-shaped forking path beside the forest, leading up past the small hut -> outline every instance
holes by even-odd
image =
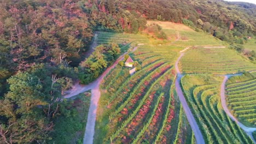
[[[138,46],[134,47],[131,52],[136,51]],[[124,59],[124,55],[126,55],[127,52],[125,52],[123,55],[121,55],[117,61],[115,61],[109,68],[107,68],[104,73],[98,77],[94,82],[90,83],[89,85],[79,85],[79,82],[75,83],[75,85],[72,87],[71,90],[67,91],[67,95],[64,96],[64,98],[71,98],[75,95],[78,95],[80,93],[83,93],[85,91],[88,91],[91,89],[91,101],[90,101],[90,107],[88,112],[88,118],[85,128],[85,134],[84,134],[84,144],[92,144],[94,142],[94,130],[95,130],[95,121],[96,121],[96,114],[97,114],[97,107],[98,107],[98,100],[101,97],[100,92],[100,83],[102,82],[103,78],[109,73],[111,69],[115,67],[115,65],[118,64],[118,62],[122,59]]]

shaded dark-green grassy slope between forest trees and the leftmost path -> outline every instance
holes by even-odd
[[[52,140],[48,143],[83,143],[90,106],[90,92],[73,97],[71,108],[65,116],[55,119]]]

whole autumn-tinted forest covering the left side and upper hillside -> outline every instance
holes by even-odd
[[[166,39],[160,26],[154,31],[147,20],[171,21],[213,35],[237,51],[256,35],[256,5],[222,0],[3,0],[0,11],[4,143],[60,139],[55,126],[78,113],[74,100],[62,100],[62,95],[74,81],[94,81],[121,54],[123,45],[111,43],[85,58],[97,31],[152,31]],[[255,52],[248,55],[255,57]]]

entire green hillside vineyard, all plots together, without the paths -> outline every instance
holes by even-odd
[[[129,55],[142,69],[130,75],[130,68],[117,65],[104,77],[94,143],[196,143],[174,85],[174,63],[184,47],[189,48],[178,67],[187,75],[181,85],[205,143],[253,143],[223,110],[220,101],[223,77],[214,74],[254,71],[255,64],[234,50],[216,48],[225,43],[211,35],[181,24],[156,23],[162,26],[167,40],[146,34],[97,32],[98,44],[115,42],[129,47],[140,44]],[[207,46],[216,47],[203,48]],[[232,113],[251,125],[255,125],[256,119],[255,75],[256,72],[247,78],[235,76],[226,87]]]

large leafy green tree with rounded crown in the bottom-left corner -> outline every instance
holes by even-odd
[[[10,92],[0,101],[0,115],[6,120],[0,125],[0,138],[5,143],[28,143],[48,139],[53,123],[38,105],[46,105],[42,83],[37,76],[18,73],[8,79]]]

